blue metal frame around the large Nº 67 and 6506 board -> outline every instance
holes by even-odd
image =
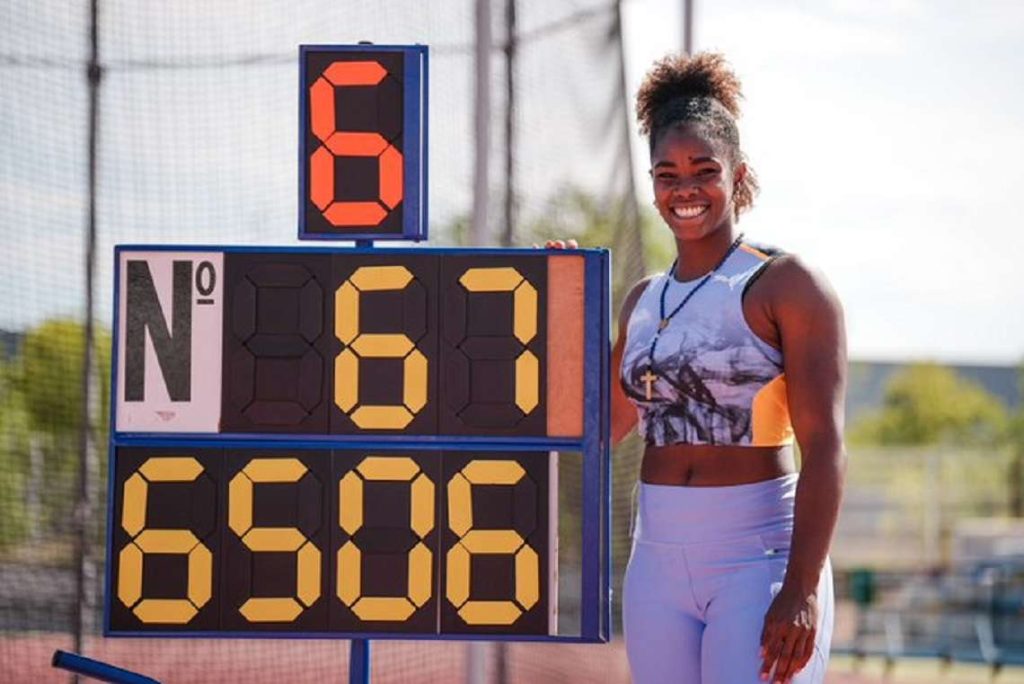
[[[228,247],[209,245],[120,245],[114,254],[114,335],[111,364],[110,458],[108,460],[106,509],[106,563],[103,600],[103,634],[109,637],[175,637],[175,638],[332,638],[351,639],[356,643],[370,639],[404,640],[459,640],[459,641],[541,641],[555,643],[594,643],[610,638],[610,397],[608,377],[609,313],[609,258],[606,250],[537,250],[508,248],[394,248],[386,251],[375,249],[361,241],[355,248],[323,247]],[[584,256],[585,292],[590,295],[584,302],[584,347],[586,358],[600,358],[598,365],[584,366],[584,430],[581,438],[571,437],[480,437],[454,435],[287,435],[287,434],[237,434],[237,433],[138,433],[118,432],[117,398],[120,379],[120,277],[121,258],[124,252],[224,252],[224,253],[276,253],[276,254],[394,254],[400,255],[509,255],[520,253],[530,256],[579,254]],[[559,635],[496,635],[496,634],[408,634],[370,632],[112,632],[111,603],[114,600],[111,579],[114,560],[114,482],[116,450],[126,446],[190,446],[221,448],[266,448],[288,445],[297,450],[409,450],[436,448],[438,451],[567,451],[583,454],[583,567],[581,595],[581,625],[579,636]],[[369,643],[366,651],[353,650],[356,658],[365,655],[369,672]],[[354,671],[353,671],[354,676]],[[352,681],[365,681],[355,680]]]

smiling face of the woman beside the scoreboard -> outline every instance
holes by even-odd
[[[676,240],[700,240],[731,226],[732,195],[746,172],[729,160],[695,126],[666,131],[651,152],[654,206]]]

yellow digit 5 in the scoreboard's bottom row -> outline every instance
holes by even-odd
[[[227,524],[250,551],[295,553],[295,596],[253,597],[239,608],[250,623],[290,623],[321,595],[321,551],[296,527],[253,526],[253,484],[298,482],[306,467],[298,459],[253,459],[227,485]]]

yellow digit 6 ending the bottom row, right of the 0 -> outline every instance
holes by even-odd
[[[515,461],[471,461],[449,480],[449,528],[459,536],[447,553],[446,596],[468,625],[511,625],[541,598],[541,561],[514,529],[473,529],[473,485],[515,484],[525,476]],[[470,600],[473,554],[515,557],[515,600]]]

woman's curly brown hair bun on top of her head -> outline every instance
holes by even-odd
[[[725,57],[717,52],[693,56],[670,54],[654,62],[637,92],[640,132],[650,135],[658,126],[658,113],[666,105],[689,98],[712,97],[734,119],[739,118],[742,91],[739,79]]]

